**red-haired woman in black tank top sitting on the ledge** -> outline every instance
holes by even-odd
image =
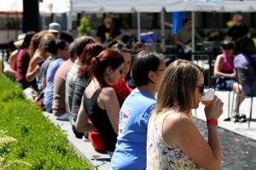
[[[76,130],[98,131],[105,149],[113,155],[119,129],[119,99],[109,83],[118,83],[125,70],[125,59],[119,52],[103,50],[91,59],[91,82],[84,90]],[[89,122],[90,119],[90,122]]]

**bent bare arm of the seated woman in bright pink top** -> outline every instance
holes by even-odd
[[[224,57],[223,54],[219,54],[216,58],[215,64],[214,64],[214,71],[213,75],[215,77],[225,77],[225,78],[236,78],[236,73],[224,73],[221,71],[222,67],[224,65]]]

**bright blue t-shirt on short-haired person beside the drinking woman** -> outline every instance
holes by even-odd
[[[154,96],[137,88],[125,99],[119,113],[112,169],[146,169],[148,120],[154,107]]]

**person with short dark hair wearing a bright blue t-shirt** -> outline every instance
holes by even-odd
[[[157,53],[143,51],[133,61],[131,77],[137,88],[125,99],[119,112],[119,137],[111,159],[112,169],[146,168],[148,119],[165,69],[163,57]],[[152,73],[154,76],[149,77]]]

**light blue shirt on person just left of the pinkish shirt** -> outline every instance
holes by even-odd
[[[52,110],[53,99],[53,85],[55,79],[55,72],[64,62],[64,59],[55,59],[49,63],[49,67],[46,73],[46,88],[44,90],[44,106],[46,111]]]

